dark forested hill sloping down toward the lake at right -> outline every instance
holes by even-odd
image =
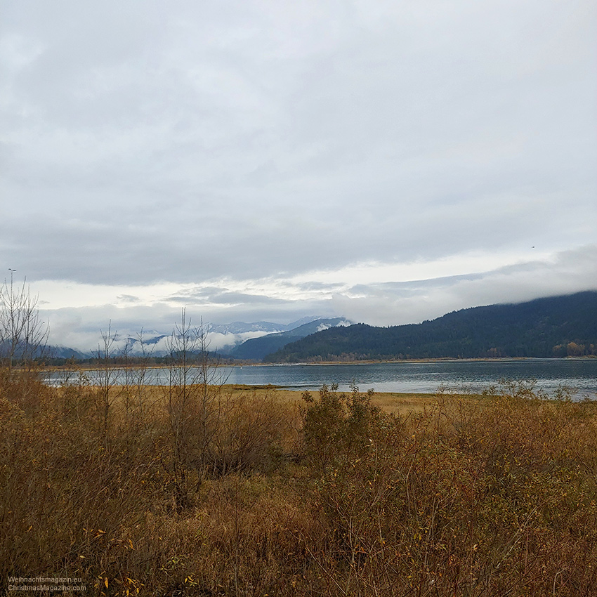
[[[393,327],[333,327],[265,362],[597,355],[597,291],[475,307]]]

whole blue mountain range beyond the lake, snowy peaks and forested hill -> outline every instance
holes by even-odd
[[[207,325],[209,350],[231,360],[322,362],[437,358],[597,355],[597,291],[517,304],[462,309],[419,324],[373,327],[344,317],[303,317],[291,324],[232,322]],[[169,353],[171,334],[124,334],[114,354]],[[96,351],[51,347],[58,359]]]

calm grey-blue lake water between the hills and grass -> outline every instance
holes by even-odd
[[[356,383],[362,391],[433,393],[442,386],[480,391],[506,379],[536,380],[535,388],[553,395],[572,388],[577,398],[597,398],[597,359],[529,359],[500,361],[441,361],[365,363],[346,365],[260,365],[220,367],[226,383],[262,386],[271,383],[289,389],[317,389],[338,383],[341,390]],[[93,372],[90,372],[93,379]],[[166,383],[167,370],[151,369],[147,383]],[[52,374],[50,383],[57,383]]]

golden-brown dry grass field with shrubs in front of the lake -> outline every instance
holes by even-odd
[[[594,402],[0,381],[1,591],[597,594]]]

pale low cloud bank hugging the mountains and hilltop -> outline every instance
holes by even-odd
[[[273,282],[272,282],[273,283]],[[342,285],[336,282],[318,284],[317,294],[301,294],[301,283],[292,286],[280,280],[291,298],[275,301],[256,295],[247,303],[214,305],[202,303],[199,290],[188,293],[185,304],[193,324],[203,320],[230,323],[233,321],[270,321],[287,324],[306,315],[347,317],[355,322],[373,325],[398,325],[434,319],[462,308],[494,303],[517,303],[541,296],[572,294],[597,289],[597,245],[589,244],[564,251],[544,261],[527,261],[486,272],[436,277],[427,280]],[[225,288],[221,289],[224,292]],[[166,299],[151,305],[104,305],[42,310],[50,323],[51,343],[79,350],[92,350],[101,340],[101,331],[108,326],[121,337],[136,338],[144,330],[146,337],[171,334],[181,317],[181,306]],[[263,332],[265,333],[265,332]],[[225,350],[239,341],[263,335],[253,331],[243,334],[211,334],[211,347]]]

